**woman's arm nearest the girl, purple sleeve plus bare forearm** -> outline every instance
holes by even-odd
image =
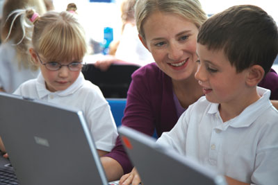
[[[133,74],[129,86],[122,125],[152,136],[154,134],[154,116],[149,103],[148,79],[140,73],[144,71],[144,67],[139,70],[139,74],[138,71]],[[106,157],[101,157],[101,162],[109,180],[120,179],[122,175],[130,173],[133,168],[120,137],[117,137],[113,150]]]

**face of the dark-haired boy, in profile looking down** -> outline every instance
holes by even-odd
[[[212,103],[236,105],[246,98],[247,70],[236,73],[222,50],[209,51],[206,46],[197,44],[199,66],[195,78],[203,87],[206,99]]]

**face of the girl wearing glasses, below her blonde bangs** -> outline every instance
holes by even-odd
[[[70,87],[75,82],[75,80],[79,77],[79,73],[82,69],[81,61],[76,61],[76,60],[61,61],[61,62],[54,61],[54,62],[58,62],[59,64],[62,64],[63,66],[56,71],[51,71],[47,69],[47,65],[55,66],[57,63],[47,64],[52,61],[47,61],[46,59],[43,58],[42,55],[40,55],[39,53],[37,55],[37,53],[35,53],[34,51],[33,54],[31,53],[31,55],[34,61],[40,66],[40,71],[42,73],[42,76],[44,77],[45,85],[47,89],[51,92],[63,91],[68,87]],[[77,67],[78,70],[77,71],[70,70],[69,66],[65,66],[68,64],[71,64],[73,68],[76,68],[76,65],[79,66]]]

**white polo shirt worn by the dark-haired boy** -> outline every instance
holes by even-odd
[[[225,123],[219,104],[199,98],[157,142],[241,182],[277,184],[278,112],[257,89],[261,98]]]

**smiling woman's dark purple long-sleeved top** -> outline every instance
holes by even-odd
[[[271,71],[259,85],[273,90],[270,98],[278,99],[277,73]],[[175,103],[173,99],[171,78],[163,73],[156,66],[156,63],[147,64],[132,75],[122,125],[149,136],[152,136],[156,129],[159,137],[162,132],[170,131],[177,123],[176,105],[177,101]],[[124,174],[129,173],[133,168],[124,151],[120,137],[117,138],[113,150],[106,156],[118,161],[124,170]]]

